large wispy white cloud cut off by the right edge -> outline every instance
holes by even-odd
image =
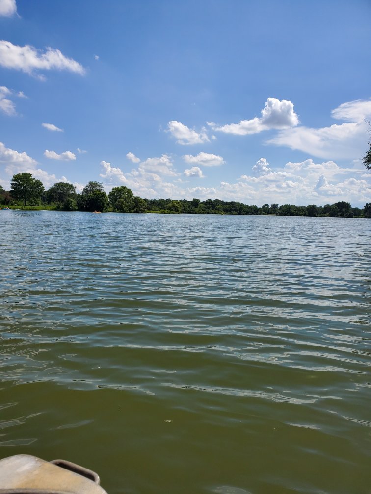
[[[285,129],[268,140],[268,144],[288,146],[324,159],[359,158],[364,153],[367,124],[364,119],[371,114],[371,100],[343,103],[331,112],[334,119],[345,120],[323,128],[300,126]]]

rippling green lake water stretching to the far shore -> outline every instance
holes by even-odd
[[[0,457],[109,494],[371,492],[371,221],[0,211]]]

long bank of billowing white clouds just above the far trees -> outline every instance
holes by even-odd
[[[126,185],[135,195],[147,199],[191,200],[195,197],[259,206],[265,203],[321,206],[349,201],[352,206],[362,207],[370,202],[371,194],[371,174],[363,177],[361,163],[343,168],[332,161],[316,163],[308,159],[272,169],[267,160],[261,158],[250,167],[249,174],[240,176],[234,183],[223,180],[215,187],[191,187],[191,180],[204,178],[202,167],[194,164],[183,173],[177,173],[171,157],[167,155],[148,158],[129,172],[106,162],[101,165],[103,171],[100,176],[105,179],[107,191],[115,185]],[[355,173],[357,179],[354,178]]]

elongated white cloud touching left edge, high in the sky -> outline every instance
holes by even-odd
[[[85,74],[84,67],[65,57],[60,50],[47,47],[46,51],[26,44],[18,46],[10,41],[0,41],[0,65],[7,69],[15,69],[34,74],[36,70],[67,70],[77,74]]]

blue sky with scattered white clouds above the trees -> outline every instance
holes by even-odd
[[[371,201],[371,2],[0,0],[0,184]]]

